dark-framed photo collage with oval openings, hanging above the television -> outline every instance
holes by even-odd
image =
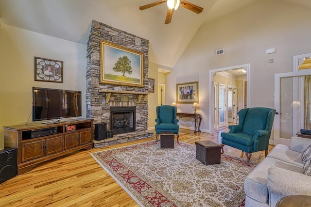
[[[63,61],[35,57],[35,80],[62,83],[63,67]]]

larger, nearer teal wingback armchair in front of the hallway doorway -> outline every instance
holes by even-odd
[[[248,165],[252,152],[265,150],[265,156],[267,156],[275,113],[275,109],[264,107],[240,110],[239,125],[230,125],[229,132],[221,133],[221,145],[242,150],[241,157],[245,152]]]

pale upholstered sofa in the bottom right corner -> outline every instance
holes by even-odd
[[[290,146],[277,144],[247,176],[245,207],[275,207],[287,195],[311,195],[311,176],[303,172],[302,152],[311,139],[292,137]]]

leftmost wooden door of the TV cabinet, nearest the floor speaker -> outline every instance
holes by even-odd
[[[44,156],[44,139],[21,143],[21,161],[29,161]]]

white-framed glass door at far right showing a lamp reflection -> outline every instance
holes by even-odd
[[[275,145],[290,145],[304,126],[304,77],[309,75],[311,69],[275,74]]]

